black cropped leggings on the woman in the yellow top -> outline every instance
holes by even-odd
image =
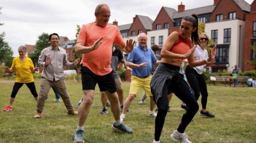
[[[11,94],[11,98],[15,98],[16,94],[18,93],[19,89],[21,88],[21,86],[24,83],[20,83],[20,82],[15,82],[14,86],[12,88],[12,94]],[[36,98],[38,96],[37,92],[36,92],[36,86],[34,82],[30,82],[30,83],[25,83],[26,86],[28,86],[30,92],[32,93],[32,95]]]

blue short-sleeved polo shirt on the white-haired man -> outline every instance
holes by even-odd
[[[144,77],[151,74],[152,64],[155,63],[157,59],[152,49],[148,48],[148,45],[146,45],[146,51],[144,51],[141,45],[138,45],[134,47],[132,53],[128,55],[127,61],[137,65],[143,62],[148,63],[147,67],[132,68],[131,74],[133,76]]]

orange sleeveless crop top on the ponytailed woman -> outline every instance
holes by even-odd
[[[184,40],[179,35],[178,42],[175,43],[169,51],[176,54],[186,54],[190,48],[191,48],[191,39],[188,38],[187,40]],[[183,59],[176,59],[176,60],[183,61]]]

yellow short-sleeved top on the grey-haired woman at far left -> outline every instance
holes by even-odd
[[[16,57],[12,61],[12,69],[16,70],[15,82],[29,83],[34,82],[32,71],[34,64],[29,57],[24,62],[20,61],[20,57]]]

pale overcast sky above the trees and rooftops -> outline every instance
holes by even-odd
[[[245,0],[252,4],[253,0]],[[44,33],[58,33],[68,39],[75,39],[76,25],[94,22],[94,10],[98,4],[110,7],[109,23],[118,25],[132,23],[135,15],[156,19],[162,6],[174,8],[182,2],[185,10],[213,5],[214,0],[0,0],[0,33],[6,33],[9,43],[18,56],[18,47],[34,45],[38,36]]]

